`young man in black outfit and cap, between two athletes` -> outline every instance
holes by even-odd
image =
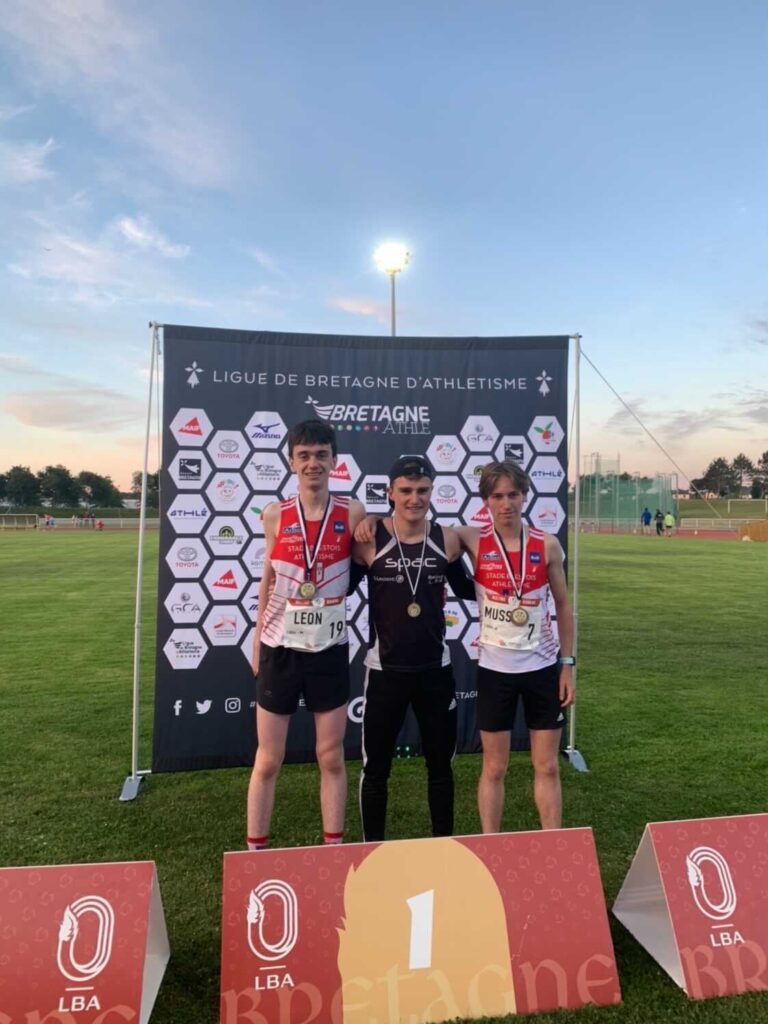
[[[392,515],[376,524],[372,541],[353,547],[368,567],[371,623],[360,779],[367,842],[384,839],[387,780],[409,706],[427,764],[432,834],[454,828],[457,705],[443,601],[445,569],[461,547],[452,530],[427,521],[433,478],[423,456],[401,456],[389,473]]]

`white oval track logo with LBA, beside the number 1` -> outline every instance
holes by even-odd
[[[269,921],[267,922],[267,918]],[[260,968],[254,979],[258,990],[293,988],[294,981],[285,964],[299,937],[299,901],[292,886],[282,879],[266,879],[248,894],[246,911],[248,946],[258,959],[274,965],[271,973]],[[270,938],[266,937],[267,933]]]

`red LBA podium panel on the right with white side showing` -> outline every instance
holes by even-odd
[[[768,814],[646,825],[613,913],[694,999],[768,990]]]

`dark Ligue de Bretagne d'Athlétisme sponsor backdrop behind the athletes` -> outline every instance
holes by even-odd
[[[328,423],[339,453],[331,489],[380,515],[389,510],[390,465],[403,454],[426,454],[436,473],[431,514],[445,524],[487,521],[477,495],[486,463],[508,457],[529,468],[536,461],[529,505],[539,504],[527,518],[565,547],[567,346],[564,337],[382,339],[164,328],[167,511],[154,771],[253,761],[254,585],[264,569],[263,510],[296,493],[289,427],[308,418]],[[343,373],[335,372],[339,367]],[[357,604],[349,623],[353,698],[362,692],[367,614]],[[475,625],[476,609],[452,603],[446,628],[461,692],[474,690]],[[224,709],[227,696],[240,698],[240,712]],[[207,699],[203,730],[190,710]],[[473,700],[461,703],[458,730],[459,751],[479,749]],[[398,745],[419,753],[412,718]],[[524,728],[515,728],[513,745],[527,745]],[[346,753],[360,753],[354,719]],[[306,710],[293,717],[287,757],[314,759]]]

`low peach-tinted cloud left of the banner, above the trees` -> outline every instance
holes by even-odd
[[[28,427],[106,433],[141,422],[138,398],[112,388],[22,391],[5,398],[1,408]]]

